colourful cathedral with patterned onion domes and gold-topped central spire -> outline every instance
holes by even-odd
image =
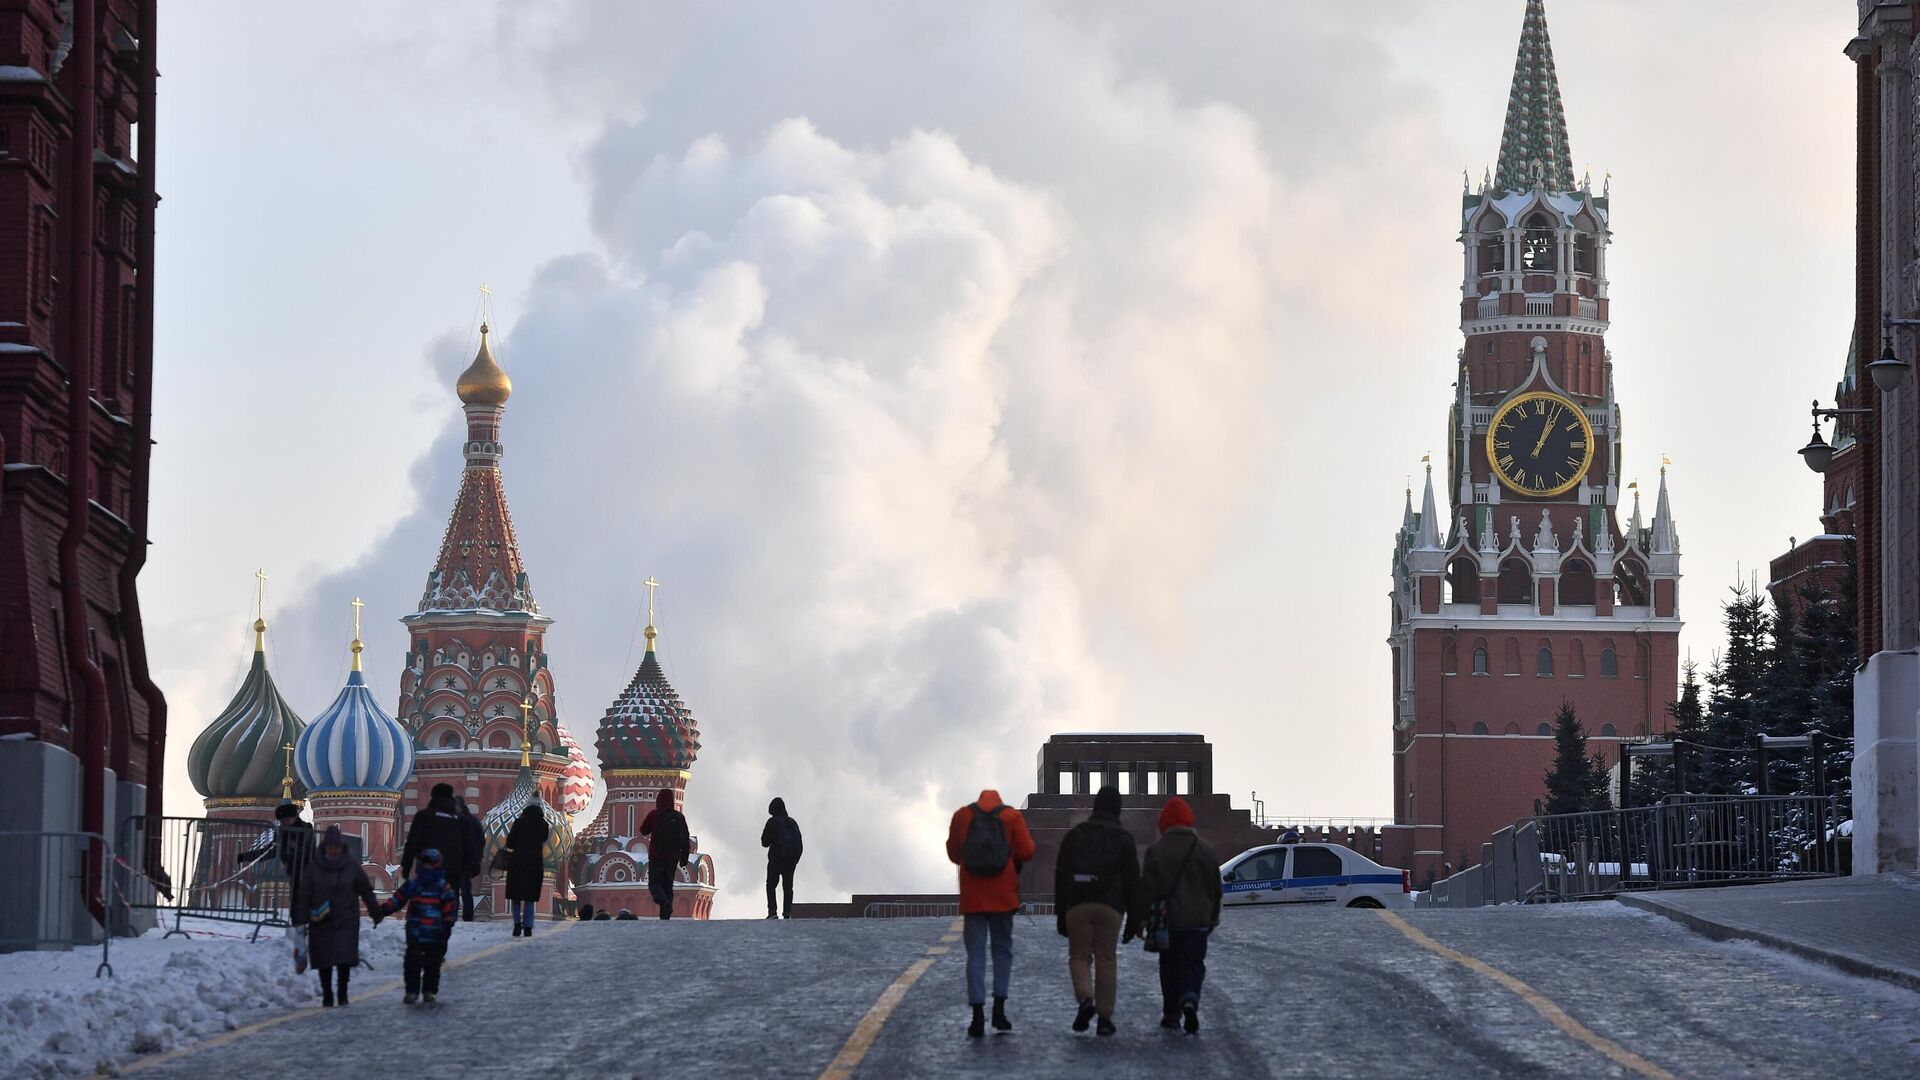
[[[534,600],[501,482],[501,417],[513,380],[493,359],[488,325],[459,375],[467,417],[465,469],[426,575],[419,609],[401,617],[409,648],[399,707],[388,715],[361,671],[359,601],[351,671],[338,698],[311,723],[280,696],[267,671],[263,619],[253,659],[227,709],[194,740],[188,776],[207,815],[265,821],[273,807],[305,799],[313,826],[338,824],[359,840],[367,876],[390,890],[413,815],[436,784],[449,784],[486,832],[482,867],[528,805],[547,819],[543,913],[578,903],[595,911],[657,915],[647,892],[639,821],[662,790],[685,809],[699,755],[693,711],[655,655],[651,578],[647,653],[595,732],[605,798],[593,805],[593,765],[559,713],[545,636],[553,619]],[[674,915],[707,919],[712,857],[699,849],[678,871]],[[507,911],[505,876],[482,869],[474,896],[488,915]]]

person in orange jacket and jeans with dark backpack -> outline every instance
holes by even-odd
[[[954,811],[947,826],[947,859],[960,867],[960,915],[966,919],[966,999],[973,1022],[966,1034],[987,1034],[987,951],[993,942],[993,1030],[1010,1032],[1006,984],[1014,978],[1014,913],[1020,911],[1020,867],[1033,859],[1027,819],[987,788]]]

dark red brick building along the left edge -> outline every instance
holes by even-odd
[[[0,4],[0,734],[31,736],[0,742],[0,786],[38,792],[6,828],[111,830],[159,813],[167,707],[134,588],[154,386],[154,8]]]

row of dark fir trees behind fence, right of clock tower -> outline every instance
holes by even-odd
[[[1672,730],[1655,740],[1682,740],[1686,788],[1692,794],[1741,796],[1759,790],[1755,736],[1828,736],[1826,792],[1837,811],[1853,817],[1853,673],[1859,665],[1855,625],[1853,546],[1847,546],[1843,580],[1834,588],[1809,582],[1799,603],[1776,609],[1764,590],[1736,584],[1720,605],[1726,648],[1715,655],[1707,678],[1688,661],[1680,700],[1668,705]],[[1607,809],[1613,792],[1607,765],[1586,749],[1586,730],[1571,703],[1553,717],[1555,755],[1548,771],[1544,813]],[[1651,805],[1674,792],[1674,759],[1634,759],[1634,805]],[[1774,796],[1811,796],[1812,755],[1774,753],[1766,765]]]

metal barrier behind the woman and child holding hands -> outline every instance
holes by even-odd
[[[286,926],[294,884],[313,857],[311,828],[271,819],[129,817],[117,844],[113,907],[173,915],[167,938],[190,936],[184,919]]]

